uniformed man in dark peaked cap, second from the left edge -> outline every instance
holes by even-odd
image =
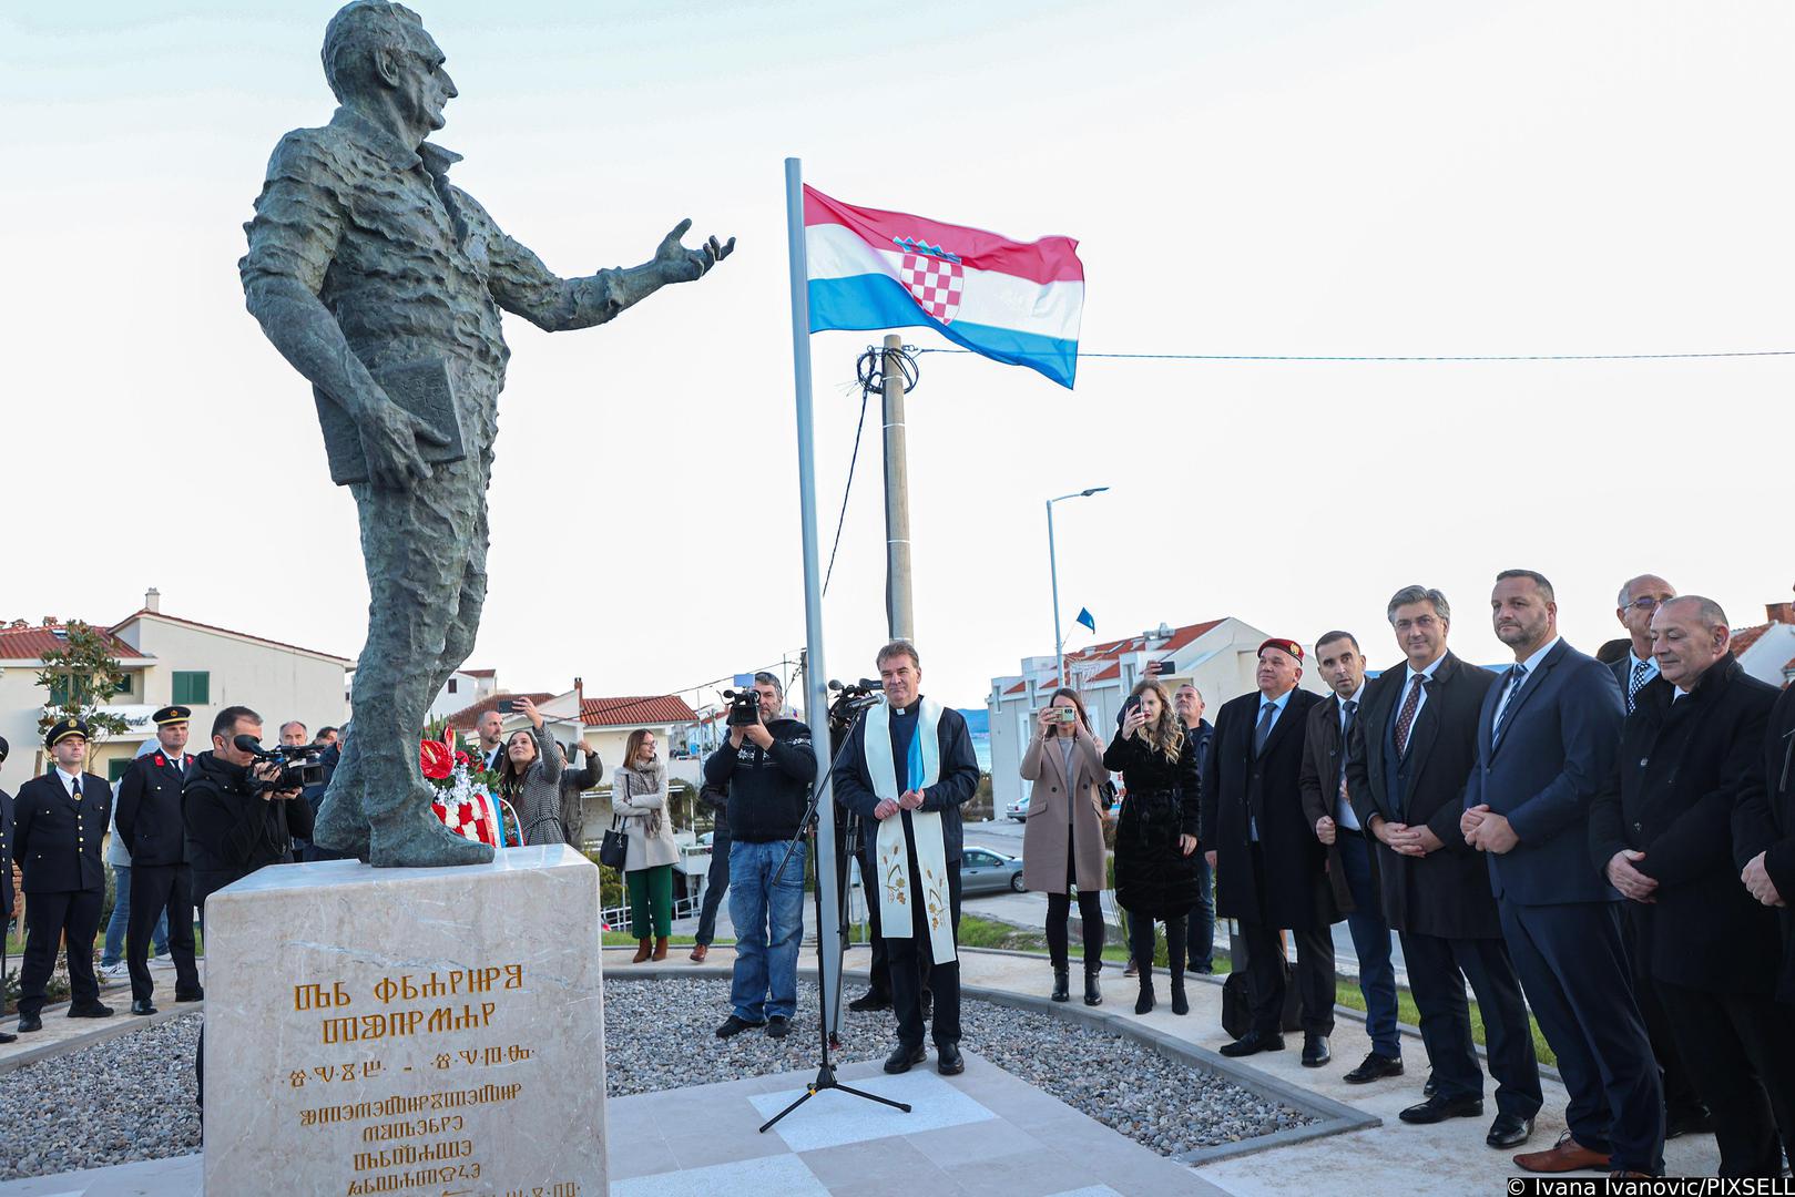
[[[83,768],[88,721],[57,720],[43,736],[56,768],[32,777],[14,802],[13,851],[25,872],[25,969],[18,985],[18,1028],[43,1030],[43,987],[56,967],[56,944],[68,940],[68,1018],[109,1018],[93,976],[93,933],[106,901],[101,840],[111,818],[111,786]]]

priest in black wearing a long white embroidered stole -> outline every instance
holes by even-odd
[[[835,797],[867,820],[878,865],[869,903],[890,958],[898,1048],[885,1071],[908,1071],[923,1050],[923,974],[935,994],[935,1066],[960,1059],[960,806],[978,790],[978,757],[959,711],[924,698],[923,660],[908,641],[878,655],[885,703],[867,711],[835,766]],[[921,958],[919,958],[921,953]]]

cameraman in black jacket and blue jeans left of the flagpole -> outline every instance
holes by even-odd
[[[774,1039],[792,1030],[797,1009],[797,948],[804,935],[804,847],[786,847],[810,806],[817,754],[810,729],[783,718],[784,689],[772,673],[754,675],[752,723],[731,712],[729,741],[704,763],[709,786],[729,788],[729,919],[736,924],[736,974],[729,1018],[718,1039],[765,1027]],[[774,874],[784,861],[784,872]]]

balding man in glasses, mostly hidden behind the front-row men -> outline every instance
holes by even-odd
[[[1626,714],[1633,712],[1633,707],[1639,705],[1639,695],[1659,677],[1659,662],[1651,651],[1651,616],[1673,598],[1677,598],[1677,587],[1664,578],[1639,574],[1630,578],[1614,599],[1614,617],[1626,628],[1626,646],[1607,664],[1621,687]],[[1669,1016],[1664,1012],[1664,1003],[1659,1001],[1651,974],[1642,967],[1644,955],[1639,942],[1642,913],[1644,906],[1637,903],[1621,904],[1621,940],[1626,944],[1626,958],[1633,965],[1633,998],[1639,1001],[1639,1016],[1646,1019],[1651,1055],[1659,1061],[1659,1084],[1664,1088],[1664,1138],[1707,1134],[1714,1123],[1689,1082],[1689,1073],[1682,1066],[1677,1041],[1671,1035]]]

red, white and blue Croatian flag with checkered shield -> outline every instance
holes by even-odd
[[[1005,240],[804,187],[810,330],[924,325],[955,345],[1039,370],[1079,370],[1084,264],[1072,237]]]

